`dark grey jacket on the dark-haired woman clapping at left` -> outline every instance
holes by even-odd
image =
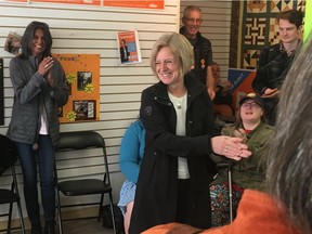
[[[14,104],[8,136],[16,142],[36,143],[40,129],[40,109],[46,108],[49,133],[55,145],[60,138],[57,107],[66,104],[68,87],[64,70],[54,60],[52,89],[47,79],[35,68],[34,56],[29,60],[14,57],[10,62],[10,77],[14,88]]]

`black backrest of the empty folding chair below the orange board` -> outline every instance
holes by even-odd
[[[105,141],[100,133],[95,131],[61,132],[60,142],[55,147],[56,152],[88,148],[102,148],[105,167],[104,181],[107,179],[110,184]]]

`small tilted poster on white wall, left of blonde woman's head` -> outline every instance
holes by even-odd
[[[136,30],[118,31],[117,44],[119,48],[120,64],[142,62],[139,36]]]

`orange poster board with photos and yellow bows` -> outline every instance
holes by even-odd
[[[69,99],[60,122],[100,120],[100,54],[53,54],[65,70]]]

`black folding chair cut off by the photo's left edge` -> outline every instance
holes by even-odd
[[[0,134],[0,177],[8,177],[8,173],[4,173],[9,168],[11,168],[11,174],[9,177],[12,178],[12,184],[11,188],[0,188],[0,207],[4,205],[9,205],[9,211],[2,212],[4,209],[1,208],[0,217],[9,217],[8,219],[8,226],[5,230],[0,230],[0,233],[2,231],[6,231],[6,233],[11,233],[16,227],[12,227],[12,212],[13,212],[13,204],[17,204],[17,211],[20,217],[20,227],[21,232],[25,234],[25,225],[24,225],[24,219],[23,219],[23,212],[22,212],[22,206],[21,206],[21,196],[18,194],[18,187],[17,187],[17,179],[15,173],[15,162],[17,160],[17,152],[14,147],[13,142],[11,140],[2,134]]]

